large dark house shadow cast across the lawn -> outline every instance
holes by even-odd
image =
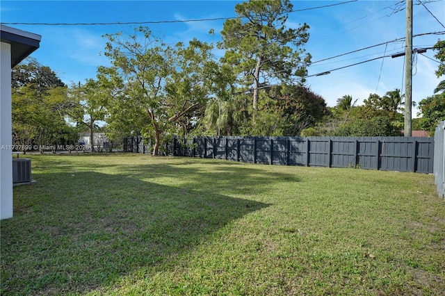
[[[1,295],[109,286],[138,268],[175,261],[233,220],[268,206],[98,172],[35,179],[35,186],[15,188],[15,217],[1,222]]]

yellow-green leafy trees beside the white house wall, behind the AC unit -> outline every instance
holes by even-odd
[[[72,108],[67,88],[49,67],[26,61],[12,74],[13,144],[42,147],[77,142],[77,131],[65,122]]]

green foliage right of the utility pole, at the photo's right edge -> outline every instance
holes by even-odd
[[[436,126],[445,120],[445,92],[421,100],[419,110],[422,115],[419,125],[428,135],[434,135]]]

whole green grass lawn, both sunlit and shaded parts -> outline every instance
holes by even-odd
[[[443,295],[427,174],[138,154],[31,156],[1,295]]]

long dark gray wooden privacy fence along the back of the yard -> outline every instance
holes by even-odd
[[[195,137],[175,138],[169,149],[173,156],[245,163],[432,173],[434,138]]]

